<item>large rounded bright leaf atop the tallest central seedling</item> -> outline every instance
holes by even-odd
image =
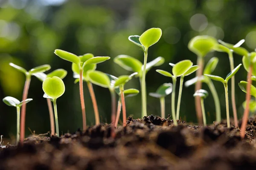
[[[162,30],[160,28],[150,28],[141,34],[139,40],[146,50],[148,47],[155,44],[160,39],[161,35]]]

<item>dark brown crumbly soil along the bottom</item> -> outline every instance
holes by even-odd
[[[239,127],[241,121],[239,122]],[[102,124],[56,136],[31,136],[0,148],[0,170],[255,170],[256,117],[245,139],[226,122],[207,127],[147,116],[115,130]]]

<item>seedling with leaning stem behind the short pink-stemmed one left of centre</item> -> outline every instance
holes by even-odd
[[[140,91],[138,91],[137,89],[134,89],[134,88],[129,88],[127,90],[124,90],[123,92],[124,92],[125,98],[126,97],[136,96],[138,93],[140,93]],[[118,120],[120,118],[121,108],[122,108],[121,93],[120,93],[120,89],[119,88],[116,88],[116,93],[119,95],[119,100],[117,102],[117,112],[116,112],[115,127],[117,127]]]

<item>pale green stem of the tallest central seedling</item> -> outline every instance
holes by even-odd
[[[143,65],[143,74],[142,74],[142,105],[143,105],[143,115],[147,116],[147,103],[146,103],[146,85],[145,85],[145,79],[146,79],[146,65],[147,65],[147,58],[148,58],[148,49],[144,51],[144,65]]]

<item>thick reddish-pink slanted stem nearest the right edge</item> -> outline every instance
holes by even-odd
[[[244,138],[245,136],[245,130],[246,130],[246,125],[249,117],[249,104],[250,104],[250,85],[252,84],[252,71],[253,71],[253,65],[250,65],[250,70],[247,74],[247,85],[246,85],[246,107],[244,109],[244,116],[242,119],[242,125],[241,125],[241,131],[240,131],[240,136],[241,138]]]

